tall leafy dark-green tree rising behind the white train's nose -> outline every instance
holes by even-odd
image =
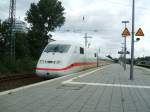
[[[61,27],[65,22],[64,7],[58,0],[40,0],[32,3],[26,13],[31,29],[28,33],[29,47],[33,57],[39,57],[47,44],[48,33]]]

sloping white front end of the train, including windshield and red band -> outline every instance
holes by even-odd
[[[66,56],[71,45],[64,43],[48,44],[37,64],[36,73],[39,76],[63,75],[67,64]]]

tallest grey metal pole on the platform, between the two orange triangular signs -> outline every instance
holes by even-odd
[[[132,3],[132,39],[131,39],[131,66],[130,66],[130,80],[133,80],[134,74],[134,11],[135,11],[135,0]]]

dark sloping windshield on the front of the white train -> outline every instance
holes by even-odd
[[[66,53],[68,52],[70,45],[65,44],[50,44],[46,47],[44,52],[59,52],[59,53]]]

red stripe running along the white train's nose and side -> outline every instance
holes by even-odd
[[[47,71],[63,71],[63,70],[67,70],[73,67],[77,67],[77,66],[84,66],[84,65],[94,65],[97,64],[97,62],[82,62],[82,63],[73,63],[67,67],[64,68],[36,68],[36,70],[47,70]]]

